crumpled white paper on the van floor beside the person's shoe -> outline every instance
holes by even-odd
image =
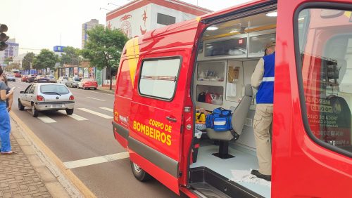
[[[265,185],[271,187],[271,182],[257,178],[256,176],[251,174],[252,169],[247,170],[231,170],[232,178],[230,180],[234,182],[246,182],[246,183],[257,183],[260,185]]]

